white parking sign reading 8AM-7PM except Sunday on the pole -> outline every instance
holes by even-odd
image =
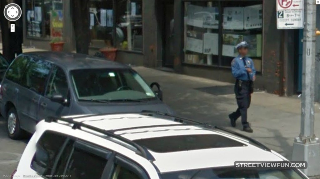
[[[277,28],[303,29],[303,0],[277,0]]]

